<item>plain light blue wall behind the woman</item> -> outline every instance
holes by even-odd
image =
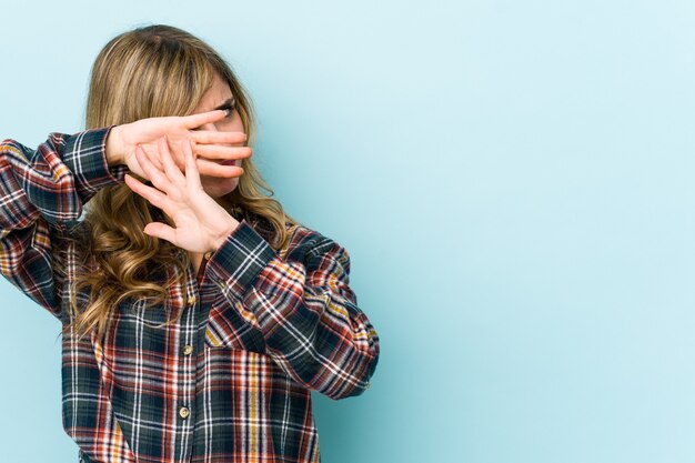
[[[79,131],[135,26],[232,63],[382,340],[364,395],[316,396],[325,463],[695,461],[693,2],[17,3],[0,138]],[[0,292],[0,461],[75,462],[59,324]]]

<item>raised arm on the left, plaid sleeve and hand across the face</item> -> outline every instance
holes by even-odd
[[[129,170],[140,172],[133,155],[139,144],[152,147],[167,135],[181,159],[177,141],[189,139],[207,155],[238,158],[241,148],[230,149],[229,143],[243,133],[194,130],[224,115],[218,110],[143,119],[74,135],[52,133],[36,150],[13,140],[0,143],[0,273],[60,318],[62,281],[52,266],[51,232],[77,223],[83,205],[100,189],[123,183]],[[159,162],[157,152],[148,155]],[[199,162],[211,175],[220,172],[214,162]]]

